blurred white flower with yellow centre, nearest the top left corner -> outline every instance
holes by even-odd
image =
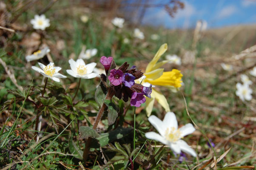
[[[45,30],[46,27],[50,26],[50,20],[46,18],[44,14],[35,15],[34,19],[30,21],[34,29]]]

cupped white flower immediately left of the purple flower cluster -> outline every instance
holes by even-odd
[[[67,73],[73,77],[82,78],[82,79],[92,79],[97,77],[96,73],[93,73],[93,69],[96,66],[95,62],[85,65],[85,62],[82,59],[77,59],[75,62],[74,59],[68,60],[71,70],[67,70]]]

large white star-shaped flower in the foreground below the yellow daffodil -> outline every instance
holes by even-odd
[[[170,146],[171,150],[177,154],[182,151],[192,156],[196,156],[196,152],[182,140],[184,136],[191,134],[196,130],[191,123],[188,123],[178,129],[178,122],[173,112],[167,112],[163,121],[154,115],[150,116],[148,121],[160,133],[145,133],[145,136],[148,139],[153,139]]]

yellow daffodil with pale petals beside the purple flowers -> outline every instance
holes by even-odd
[[[151,115],[155,99],[160,105],[162,105],[166,112],[170,111],[169,104],[165,96],[161,92],[154,89],[155,85],[161,85],[171,89],[179,89],[181,87],[181,78],[183,75],[179,70],[173,69],[172,71],[164,72],[164,68],[160,68],[162,65],[169,62],[168,60],[158,62],[159,58],[165,53],[166,50],[167,44],[165,43],[161,45],[154,58],[148,63],[144,73],[145,78],[143,79],[142,84],[150,83],[153,85],[151,98],[146,97],[147,116]]]

